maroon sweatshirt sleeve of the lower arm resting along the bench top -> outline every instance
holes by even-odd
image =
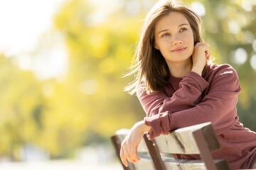
[[[213,123],[217,135],[227,131],[238,119],[238,74],[232,67],[225,68],[215,74],[209,86],[208,94],[193,108],[175,113],[164,111],[144,118],[146,125],[151,126],[147,133],[149,140],[161,134],[167,135],[170,130],[205,122]]]

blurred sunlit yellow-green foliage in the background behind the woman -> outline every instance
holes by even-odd
[[[52,158],[73,157],[75,149],[109,142],[115,130],[131,128],[144,118],[137,97],[123,91],[133,77],[122,76],[129,72],[142,20],[156,1],[120,1],[122,5],[98,23],[93,14],[100,4],[95,7],[88,0],[67,1],[56,12],[54,26],[69,51],[63,81],[38,81],[32,72],[19,69],[15,57],[0,55],[0,157],[19,160],[19,149],[26,143],[45,148]],[[183,2],[190,6],[193,1]],[[256,53],[256,6],[246,7],[249,0],[199,2],[206,8],[205,40],[215,62],[229,63],[238,71],[240,120],[256,131],[256,71],[250,66]],[[131,11],[134,6],[139,6],[137,11]],[[243,64],[233,62],[238,47],[247,52]]]

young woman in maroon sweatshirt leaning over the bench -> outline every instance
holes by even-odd
[[[256,162],[256,133],[238,121],[238,74],[228,64],[208,62],[210,50],[201,38],[201,18],[174,0],[159,1],[146,16],[137,46],[137,73],[127,88],[137,91],[146,118],[136,123],[122,142],[120,157],[136,163],[144,133],[149,140],[170,130],[211,122],[230,169],[250,169]],[[234,149],[235,148],[235,149]],[[176,154],[179,159],[198,155]]]

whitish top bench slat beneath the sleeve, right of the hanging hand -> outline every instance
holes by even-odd
[[[193,125],[188,128],[181,128],[171,132],[169,135],[160,135],[156,137],[156,145],[159,146],[159,152],[172,153],[172,154],[200,154],[200,151],[196,145],[196,141],[193,137],[193,132],[200,130],[203,127],[207,132],[208,147],[210,152],[220,149],[218,138],[215,135],[215,131],[211,123],[202,123],[199,125]]]

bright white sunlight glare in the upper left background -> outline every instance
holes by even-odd
[[[38,48],[42,34],[52,28],[52,17],[63,1],[65,0],[0,1],[0,52],[6,57],[18,57],[21,69],[31,69],[36,74],[43,75],[41,77],[43,79],[55,77],[60,74],[60,70],[65,70],[64,67],[67,65],[65,50],[60,52],[60,49],[48,49],[53,51],[46,52],[50,55],[48,58],[50,57],[52,62],[58,62],[58,64],[50,63],[43,54],[40,55],[41,58],[36,56],[36,60],[40,63],[36,64],[33,59],[35,56],[32,55]],[[65,64],[61,65],[61,60],[65,60],[63,61]],[[46,65],[54,65],[54,67],[42,67]]]

